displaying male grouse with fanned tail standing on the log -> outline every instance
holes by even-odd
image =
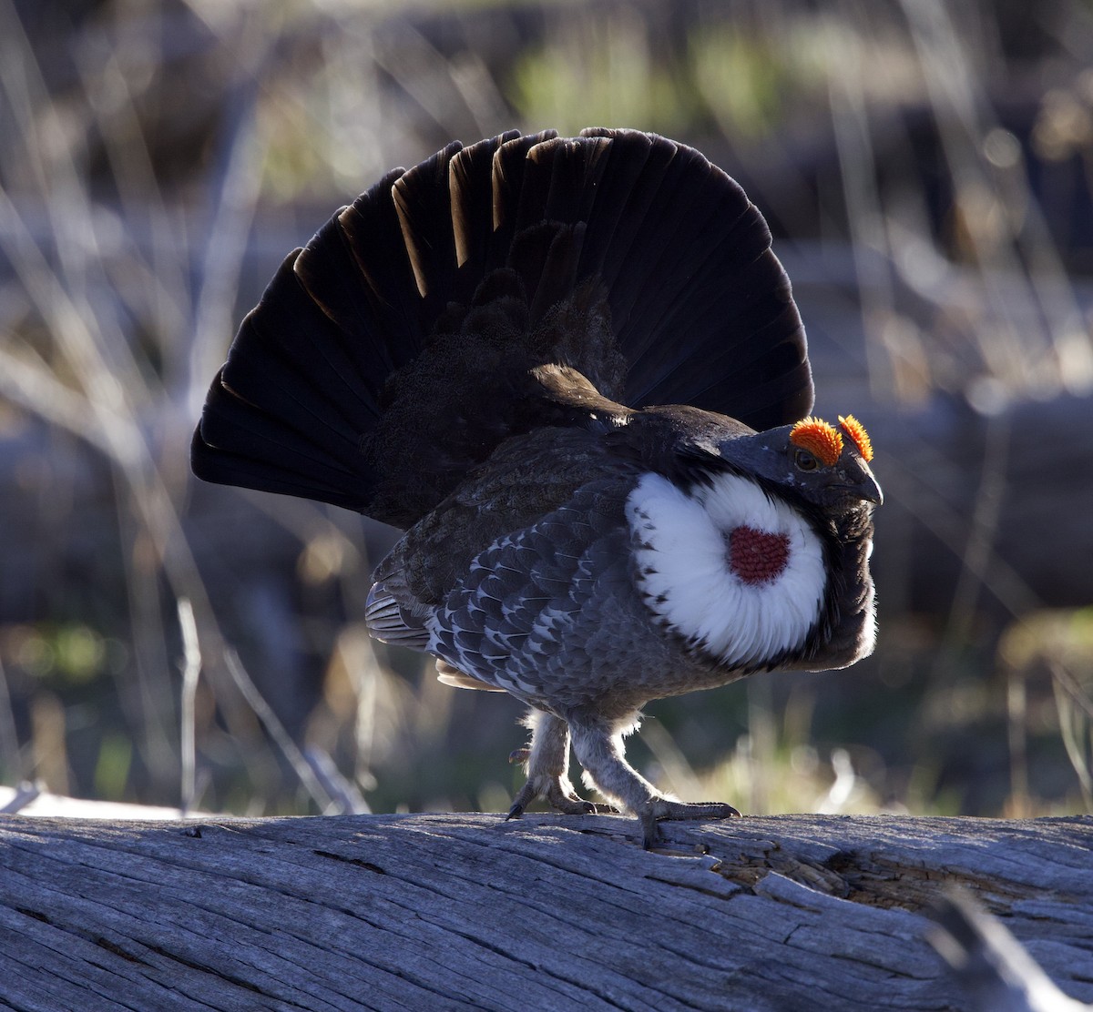
[[[804,418],[769,245],[736,182],[660,136],[454,143],[290,254],[212,383],[196,474],[407,528],[373,635],[531,707],[510,815],[595,811],[571,737],[646,845],[736,814],[627,764],[640,707],[872,651],[869,440]]]

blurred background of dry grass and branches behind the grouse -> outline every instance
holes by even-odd
[[[508,807],[519,706],[364,632],[395,533],[196,485],[188,442],[337,206],[453,138],[607,124],[766,214],[818,410],[867,424],[889,499],[877,655],[654,704],[649,775],[751,811],[1091,810],[1091,51],[1083,0],[0,0],[0,782]]]

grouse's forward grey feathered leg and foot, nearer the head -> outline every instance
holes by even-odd
[[[600,794],[618,801],[642,823],[642,843],[651,849],[660,838],[657,823],[661,819],[728,819],[739,815],[731,805],[721,801],[687,802],[661,794],[628,762],[623,749],[623,735],[633,722],[604,726],[598,721],[571,718],[573,748],[585,767],[585,779]]]

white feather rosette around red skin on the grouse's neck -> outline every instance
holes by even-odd
[[[710,487],[687,495],[647,474],[626,500],[626,519],[637,546],[638,590],[682,636],[730,667],[762,664],[804,644],[826,574],[820,538],[790,505],[736,475],[717,475]],[[733,570],[730,538],[738,528],[785,545],[777,572],[755,580]]]

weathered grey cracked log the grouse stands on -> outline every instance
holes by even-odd
[[[15,1009],[961,1009],[962,885],[1093,1001],[1093,818],[0,819]]]

